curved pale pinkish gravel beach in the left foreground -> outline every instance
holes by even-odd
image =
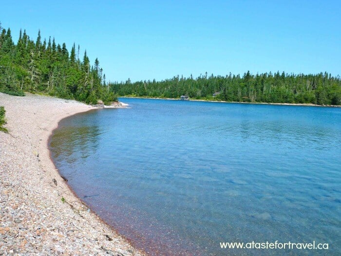
[[[58,121],[94,107],[2,93],[0,106],[9,131],[0,132],[0,255],[144,255],[74,195],[50,159]]]

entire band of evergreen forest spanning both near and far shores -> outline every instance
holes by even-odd
[[[18,42],[10,28],[0,23],[0,92],[12,95],[46,93],[59,98],[96,104],[117,101],[117,96],[180,98],[181,95],[202,100],[265,103],[308,103],[341,105],[341,78],[327,72],[319,74],[272,74],[175,76],[161,81],[107,82],[98,59],[90,64],[87,52],[80,57],[80,47],[51,37],[32,40],[20,30]]]

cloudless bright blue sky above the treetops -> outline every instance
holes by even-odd
[[[2,1],[17,42],[80,45],[107,80],[257,72],[341,75],[341,0]]]

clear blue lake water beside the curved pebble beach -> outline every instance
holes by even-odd
[[[52,157],[151,255],[341,255],[341,109],[122,98],[63,119]],[[220,242],[329,250],[221,249]]]

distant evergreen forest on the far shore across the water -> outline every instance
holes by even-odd
[[[119,96],[190,98],[237,102],[313,103],[341,105],[341,79],[327,73],[294,75],[270,73],[251,75],[173,77],[162,81],[110,84]],[[213,93],[219,92],[213,98]]]

